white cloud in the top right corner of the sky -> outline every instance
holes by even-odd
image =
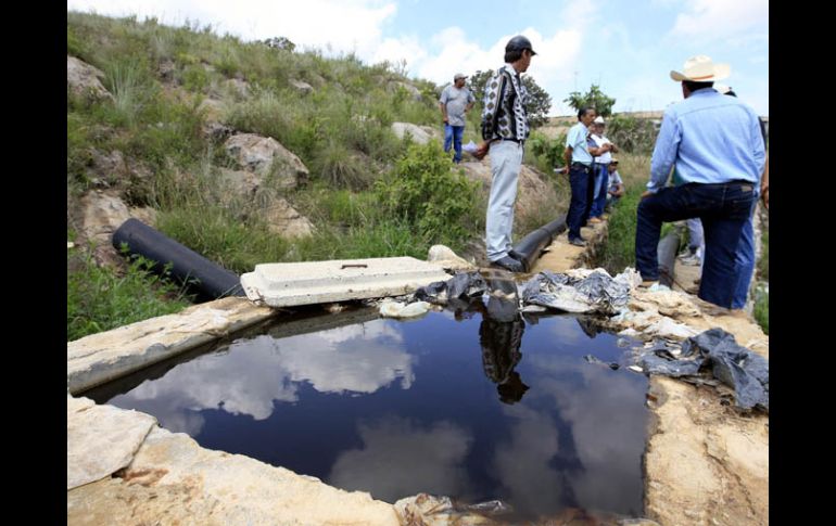
[[[676,16],[671,36],[713,41],[752,26],[769,26],[769,0],[694,0]]]

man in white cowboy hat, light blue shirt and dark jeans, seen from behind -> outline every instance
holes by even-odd
[[[699,217],[706,254],[698,296],[731,308],[737,277],[735,248],[763,172],[764,145],[755,111],[713,89],[727,64],[697,55],[683,72],[684,101],[664,112],[650,158],[650,181],[636,211],[636,267],[643,285],[659,279],[657,244],[662,222]],[[680,184],[666,188],[675,169]]]

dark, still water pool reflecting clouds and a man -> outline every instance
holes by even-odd
[[[499,499],[518,517],[642,514],[647,380],[583,358],[625,363],[617,336],[572,316],[350,316],[366,321],[275,325],[86,396],[388,502],[425,491]]]

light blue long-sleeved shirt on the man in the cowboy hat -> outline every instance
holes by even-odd
[[[647,190],[658,192],[675,168],[677,183],[758,183],[765,162],[760,120],[735,97],[695,91],[664,112]]]

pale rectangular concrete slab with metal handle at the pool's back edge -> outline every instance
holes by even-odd
[[[449,275],[413,257],[256,265],[241,275],[246,297],[270,307],[401,296]]]

